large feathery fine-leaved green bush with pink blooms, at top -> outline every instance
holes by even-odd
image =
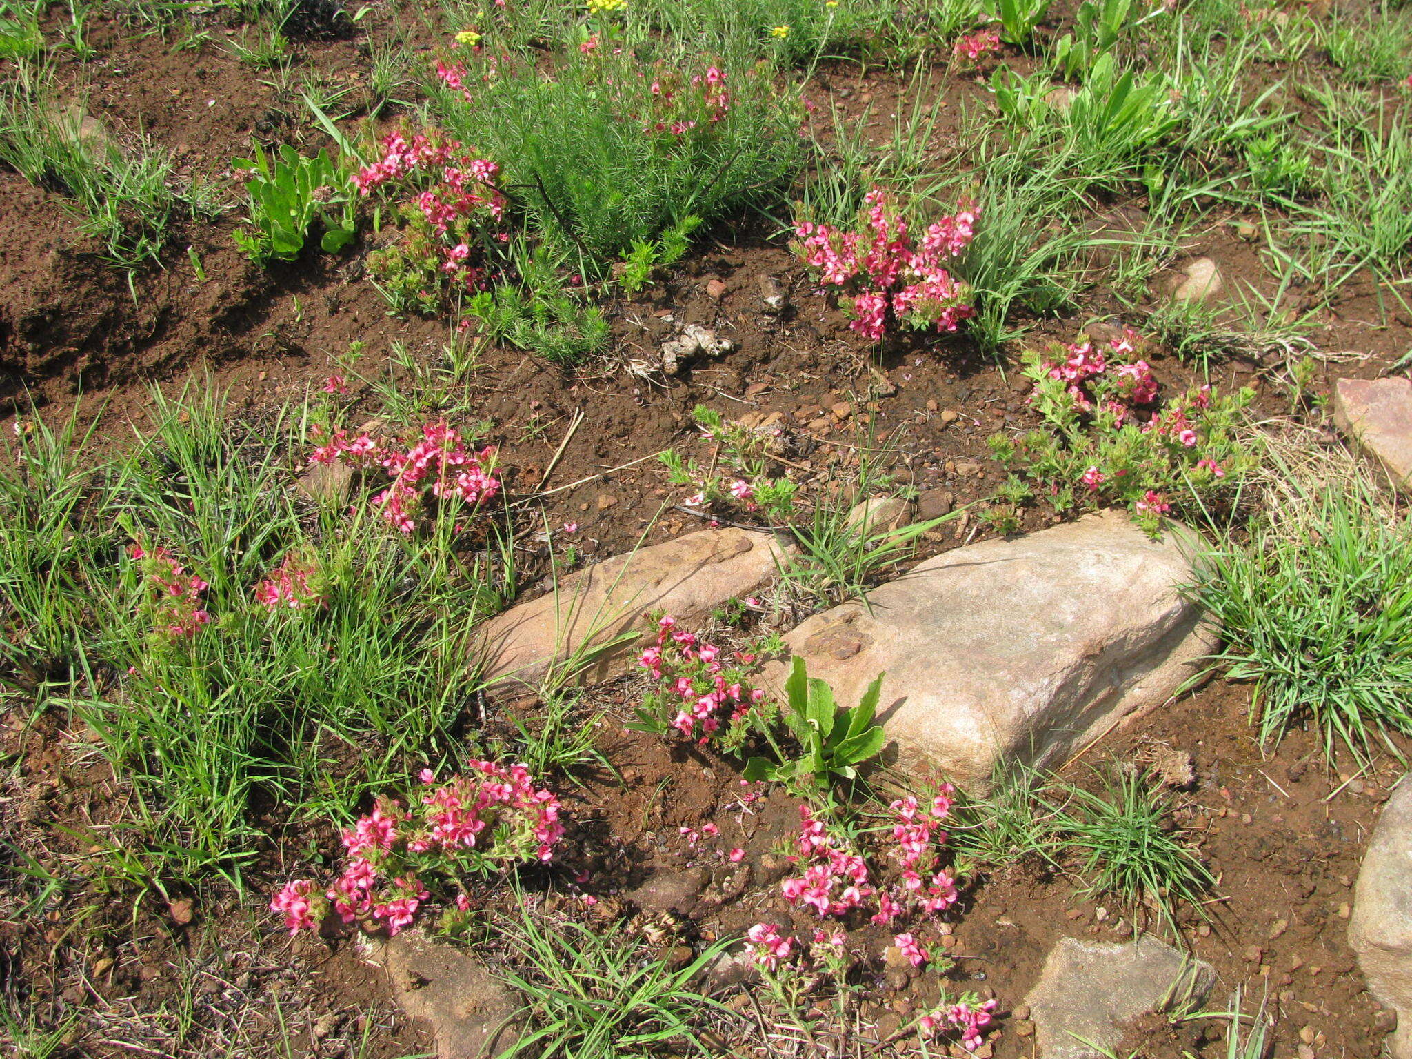
[[[709,225],[765,201],[801,158],[801,106],[768,68],[744,55],[614,51],[573,48],[551,76],[500,62],[476,92],[441,82],[429,106],[501,165],[498,186],[527,227],[572,247],[585,278],[688,217]],[[465,78],[479,80],[487,62],[467,58]]]

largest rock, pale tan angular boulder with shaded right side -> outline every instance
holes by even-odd
[[[1216,647],[1182,593],[1199,535],[1152,541],[1118,511],[919,563],[785,637],[856,703],[881,672],[878,720],[902,765],[983,786],[1001,758],[1066,757],[1165,703]],[[778,686],[785,666],[764,671]],[[891,751],[890,751],[891,753]]]

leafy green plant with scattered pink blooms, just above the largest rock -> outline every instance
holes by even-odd
[[[1056,510],[1123,504],[1155,532],[1185,497],[1210,510],[1236,493],[1252,456],[1234,432],[1254,393],[1202,385],[1163,405],[1151,366],[1137,356],[1142,345],[1127,329],[1106,349],[1083,340],[1048,356],[1028,350],[1029,404],[1046,425],[1018,441],[997,435],[991,448],[1046,484]]]

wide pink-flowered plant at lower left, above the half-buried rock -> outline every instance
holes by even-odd
[[[448,919],[469,911],[470,877],[549,860],[563,836],[558,798],[535,789],[524,765],[470,768],[445,784],[422,770],[421,796],[407,809],[378,798],[343,833],[347,857],[333,884],[321,894],[312,880],[291,880],[270,911],[284,915],[289,933],[318,929],[333,911],[369,933],[395,935],[432,899],[445,902]]]

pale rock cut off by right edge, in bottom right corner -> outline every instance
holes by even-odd
[[[1368,991],[1398,1012],[1392,1059],[1412,1059],[1412,779],[1382,806],[1353,891],[1348,946]]]

